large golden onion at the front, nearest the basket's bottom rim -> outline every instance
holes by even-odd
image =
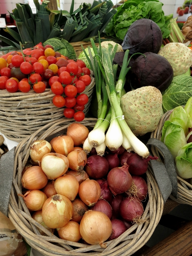
[[[105,213],[92,210],[85,212],[80,223],[80,233],[85,242],[106,248],[104,242],[111,232],[112,224]]]

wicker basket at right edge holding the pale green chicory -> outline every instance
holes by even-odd
[[[169,119],[169,116],[171,115],[172,111],[173,110],[169,110],[162,116],[162,119],[158,123],[156,130],[151,133],[151,138],[161,140],[163,125],[165,121]],[[156,147],[151,146],[151,152],[153,155],[157,155],[159,157],[159,160],[161,160],[162,162],[164,161],[162,155],[160,154],[160,152]],[[175,197],[173,197],[172,195],[170,195],[170,198],[176,201],[177,203],[192,205],[192,185],[190,185],[186,180],[183,180],[178,175],[177,175],[177,181],[178,181],[178,199],[175,199]]]

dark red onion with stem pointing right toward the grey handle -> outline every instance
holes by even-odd
[[[158,157],[152,157],[149,155],[148,158],[143,158],[137,153],[130,155],[127,159],[126,163],[129,166],[129,172],[133,175],[142,175],[147,171],[148,162],[150,159],[156,160]]]

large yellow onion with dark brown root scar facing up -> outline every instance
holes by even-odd
[[[52,229],[65,226],[72,218],[73,205],[62,195],[53,195],[44,203],[42,217],[45,225]]]

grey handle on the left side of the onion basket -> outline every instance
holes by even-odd
[[[7,217],[13,182],[15,148],[2,155],[0,159],[0,212]]]

